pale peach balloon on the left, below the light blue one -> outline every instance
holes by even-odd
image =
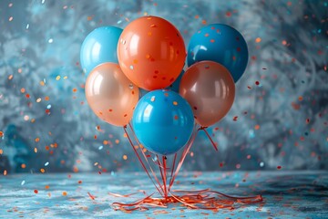
[[[138,103],[138,87],[123,74],[118,64],[104,63],[87,77],[87,103],[101,120],[125,126]]]

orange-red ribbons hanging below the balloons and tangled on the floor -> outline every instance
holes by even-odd
[[[133,144],[130,135],[128,134],[128,127],[132,132],[135,141],[137,142],[136,147]],[[263,199],[261,195],[249,196],[249,197],[238,197],[231,196],[224,193],[219,193],[216,191],[212,191],[210,189],[200,190],[200,191],[181,191],[181,190],[173,190],[171,191],[171,187],[175,182],[175,179],[179,173],[179,170],[184,162],[187,154],[190,151],[190,147],[193,144],[193,141],[196,138],[197,133],[200,130],[204,130],[206,135],[209,137],[214,149],[217,151],[217,146],[214,141],[211,140],[209,133],[206,130],[206,127],[200,127],[199,129],[195,125],[194,131],[190,138],[190,141],[186,144],[184,150],[179,156],[178,165],[176,162],[178,160],[178,153],[174,154],[173,162],[170,167],[168,167],[167,157],[162,156],[162,161],[160,162],[159,155],[155,155],[155,159],[151,159],[151,155],[146,154],[143,150],[138,138],[130,124],[124,127],[124,131],[126,136],[128,137],[128,142],[130,143],[133,151],[136,153],[138,162],[140,162],[142,168],[149,176],[149,179],[154,184],[155,188],[158,190],[161,195],[160,198],[152,197],[154,193],[147,195],[143,192],[146,197],[142,198],[136,202],[132,203],[112,203],[114,210],[120,210],[126,213],[131,213],[133,211],[147,211],[149,207],[161,207],[167,208],[170,203],[181,203],[190,209],[202,209],[202,210],[213,210],[218,211],[220,209],[234,209],[238,204],[251,204],[251,203],[262,203]],[[138,152],[139,151],[139,152]],[[142,159],[143,158],[143,159]],[[149,161],[150,160],[150,161]],[[145,161],[145,162],[144,162]],[[159,173],[161,179],[154,172],[151,164],[157,166],[159,168]],[[168,182],[168,172],[170,172],[169,183]],[[161,180],[161,183],[160,183]],[[136,193],[130,194],[118,194],[118,193],[109,193],[115,197],[128,198]]]

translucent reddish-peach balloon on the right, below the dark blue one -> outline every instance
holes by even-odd
[[[209,127],[231,109],[235,85],[227,68],[213,61],[201,61],[186,70],[179,94],[190,103],[196,121]]]

